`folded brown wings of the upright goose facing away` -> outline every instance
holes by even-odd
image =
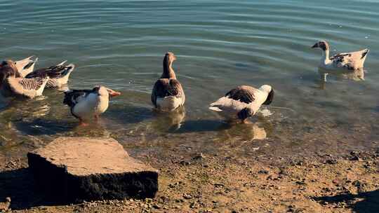
[[[154,84],[154,88],[152,91],[152,103],[155,107],[157,107],[157,98],[158,97],[178,97],[182,98],[182,102],[184,102],[185,95],[183,92],[182,85],[176,79],[168,79],[161,78],[158,79]]]

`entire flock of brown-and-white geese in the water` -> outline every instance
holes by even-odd
[[[345,73],[363,69],[368,49],[352,53],[340,53],[329,56],[329,45],[326,41],[319,41],[312,48],[320,48],[322,57],[319,67],[328,71],[342,71]],[[61,88],[67,84],[69,75],[74,71],[74,64],[62,62],[52,67],[34,70],[38,58],[27,57],[24,60],[5,60],[0,64],[0,93],[3,97],[34,98],[42,95],[45,88]],[[163,73],[155,82],[152,90],[152,104],[154,109],[162,112],[175,111],[185,104],[185,92],[178,81],[173,69],[176,57],[173,53],[166,53],[163,60]],[[324,79],[326,80],[326,78]],[[98,85],[90,90],[67,90],[64,92],[63,104],[70,108],[72,116],[78,118],[80,125],[88,125],[90,118],[98,120],[109,106],[109,98],[121,95],[105,86]],[[253,88],[249,85],[240,85],[220,97],[209,105],[209,109],[218,112],[227,121],[246,122],[246,119],[255,115],[262,104],[271,104],[274,98],[274,89],[271,85],[262,85]]]

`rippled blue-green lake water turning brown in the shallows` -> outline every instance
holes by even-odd
[[[119,140],[133,155],[177,149],[246,155],[366,150],[379,139],[378,1],[1,1],[0,58],[77,65],[69,88],[122,92],[98,125],[77,128],[62,92],[0,104],[0,153],[24,155],[58,136]],[[332,53],[370,48],[365,81],[319,81]],[[186,93],[185,112],[154,114],[150,92],[164,53]],[[268,117],[229,126],[208,104],[237,85],[270,84]],[[179,124],[180,123],[180,124]]]

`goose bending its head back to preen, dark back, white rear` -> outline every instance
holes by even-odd
[[[273,98],[274,89],[270,85],[262,85],[258,89],[240,85],[211,103],[209,109],[217,111],[227,121],[246,123],[246,119],[255,115],[262,104],[271,104]]]

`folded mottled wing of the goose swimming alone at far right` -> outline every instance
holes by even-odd
[[[359,69],[363,67],[368,51],[368,49],[365,49],[352,53],[340,53],[333,55],[330,60],[333,61],[335,67],[343,67],[351,70]]]

